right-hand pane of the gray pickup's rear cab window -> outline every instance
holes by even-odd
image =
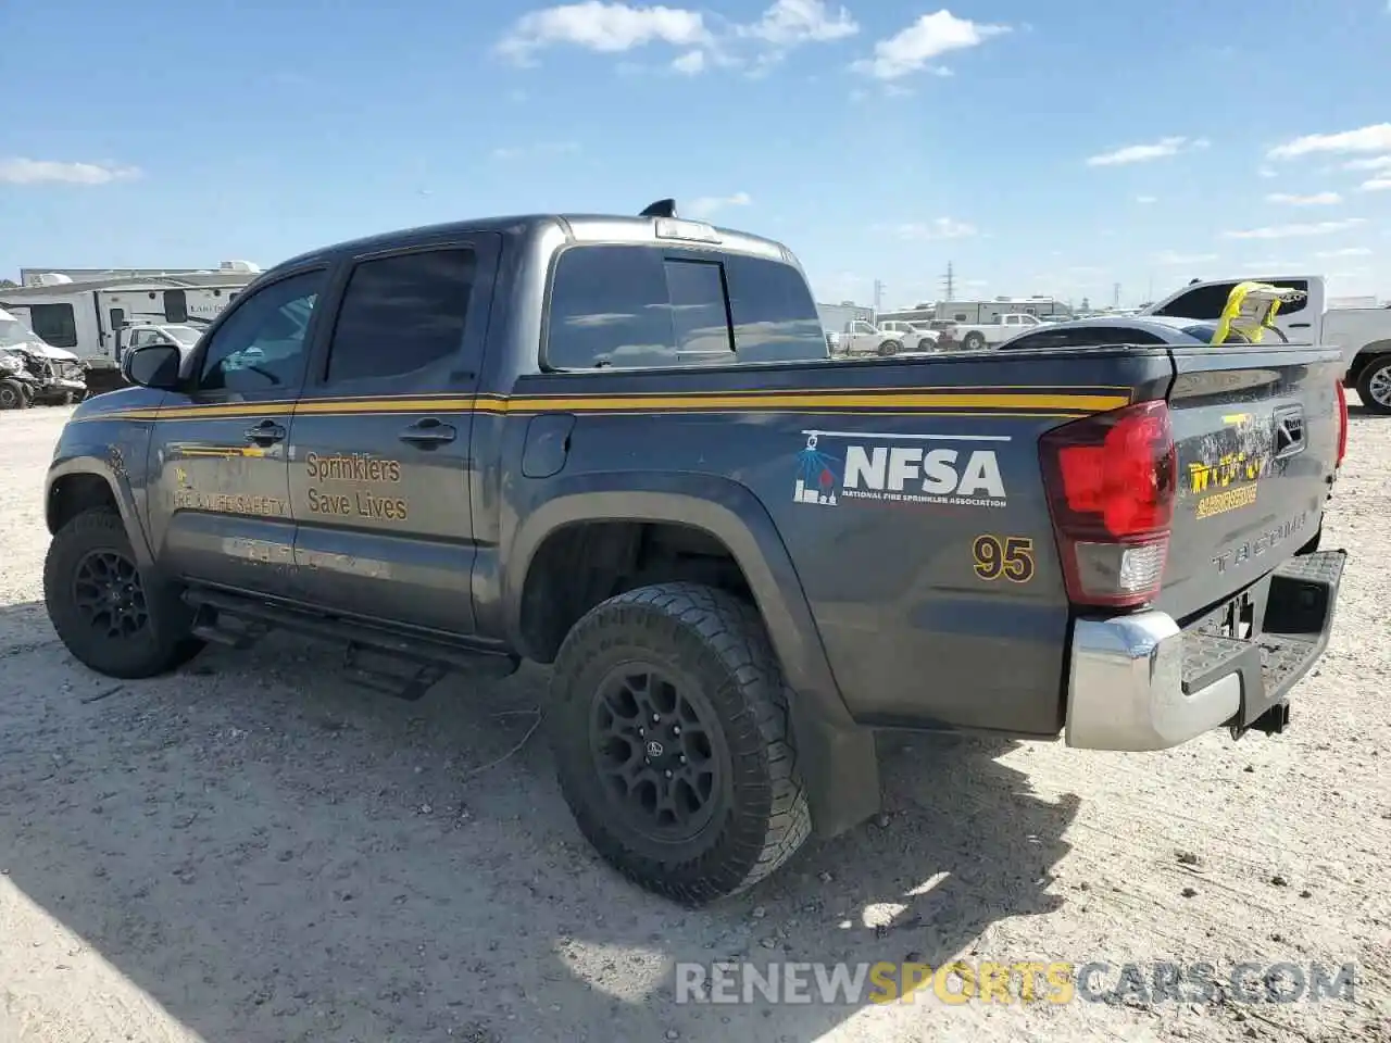
[[[743,362],[825,359],[817,302],[790,264],[732,254],[725,259],[734,352]],[[896,324],[900,330],[903,323]]]

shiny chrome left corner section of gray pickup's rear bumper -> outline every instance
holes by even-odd
[[[1241,711],[1239,673],[1184,693],[1184,634],[1164,612],[1077,620],[1071,661],[1071,747],[1167,750]]]

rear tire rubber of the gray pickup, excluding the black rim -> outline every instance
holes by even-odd
[[[634,829],[591,752],[591,715],[616,668],[645,661],[690,679],[714,709],[727,782],[689,840],[659,844]],[[741,891],[811,834],[789,691],[757,611],[730,594],[666,583],[619,594],[570,630],[545,706],[561,790],[580,832],[629,880],[696,907]]]

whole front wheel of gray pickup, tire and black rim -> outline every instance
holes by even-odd
[[[114,510],[88,510],[54,534],[43,599],[67,649],[108,677],[153,677],[203,648],[189,633],[192,609],[140,574]]]

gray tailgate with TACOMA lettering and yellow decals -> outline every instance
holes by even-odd
[[[1175,349],[1178,495],[1156,608],[1178,620],[1269,576],[1319,533],[1340,410],[1337,349]]]

